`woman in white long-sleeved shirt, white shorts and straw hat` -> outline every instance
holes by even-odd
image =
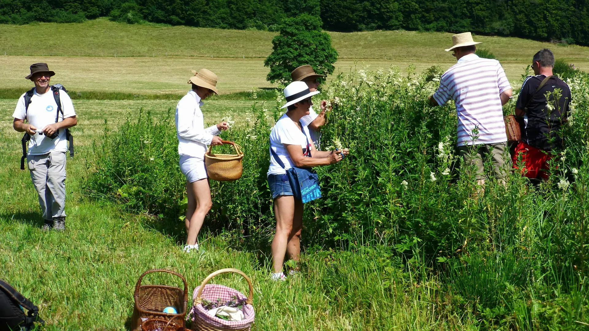
[[[217,75],[208,69],[192,71],[188,84],[192,89],[178,102],[176,107],[176,129],[178,134],[178,154],[180,154],[180,171],[186,176],[186,246],[184,251],[198,250],[197,237],[203,226],[204,217],[213,206],[207,170],[204,167],[204,154],[207,145],[220,145],[217,136],[221,130],[227,130],[226,122],[204,128],[203,112],[200,107],[203,100],[217,91]]]

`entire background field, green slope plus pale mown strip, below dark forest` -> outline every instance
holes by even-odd
[[[339,52],[336,71],[371,65],[418,71],[455,58],[445,52],[451,34],[411,31],[330,32]],[[219,30],[163,25],[128,25],[107,19],[82,24],[0,25],[2,88],[26,89],[28,66],[47,62],[54,81],[75,91],[121,91],[140,94],[186,91],[191,69],[209,68],[219,75],[221,93],[272,87],[263,59],[272,52],[276,32]],[[557,58],[589,69],[589,48],[520,38],[477,36],[501,61],[509,80],[518,80],[538,49],[549,47]],[[2,55],[6,55],[2,57]],[[333,76],[330,77],[333,78]]]

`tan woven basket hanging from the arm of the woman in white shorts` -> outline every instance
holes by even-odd
[[[223,144],[233,145],[236,154],[213,154],[213,146],[204,154],[204,164],[207,167],[209,178],[217,181],[232,181],[241,178],[243,172],[243,152],[241,146],[233,141],[221,140]]]

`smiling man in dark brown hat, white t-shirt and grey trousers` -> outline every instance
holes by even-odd
[[[13,127],[29,135],[27,167],[39,196],[45,220],[42,229],[65,230],[65,153],[68,150],[65,129],[78,123],[70,96],[54,88],[49,81],[55,75],[46,63],[32,64],[25,77],[35,87],[21,95],[14,110]],[[54,95],[54,93],[56,95]],[[25,104],[25,96],[30,97]],[[28,97],[27,97],[28,99]],[[57,104],[59,100],[59,106]],[[61,108],[61,111],[59,109]],[[57,118],[57,119],[56,119]],[[25,123],[25,120],[27,123]],[[25,135],[26,137],[26,135]]]

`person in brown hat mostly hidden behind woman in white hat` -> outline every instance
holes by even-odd
[[[300,67],[293,70],[290,73],[290,77],[292,78],[293,82],[302,81],[307,84],[310,91],[318,91],[319,88],[319,79],[320,77],[326,77],[325,75],[319,75],[315,73],[313,67],[309,64],[301,65]],[[319,143],[321,139],[321,127],[325,125],[326,121],[326,112],[327,110],[327,101],[322,100],[319,104],[321,111],[319,114],[313,110],[313,107],[309,108],[309,115],[303,116],[300,121],[303,125],[306,125],[309,128],[309,134],[311,136],[311,140],[317,149],[320,148]]]

